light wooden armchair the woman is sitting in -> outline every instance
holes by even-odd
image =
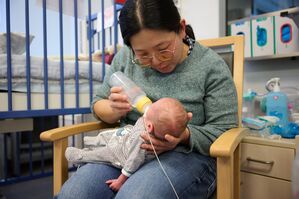
[[[228,63],[238,93],[239,127],[223,133],[211,146],[210,154],[217,158],[217,198],[240,198],[240,141],[247,129],[241,128],[244,39],[242,36],[230,36],[217,39],[200,40],[202,45],[211,48],[229,46],[230,52],[218,52]],[[54,143],[53,186],[54,195],[68,178],[68,163],[64,152],[68,146],[68,136],[83,132],[111,128],[103,122],[89,122],[52,129],[42,132],[41,140]]]

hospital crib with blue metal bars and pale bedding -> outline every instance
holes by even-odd
[[[117,51],[122,5],[3,0],[0,7],[1,186],[52,174],[52,144],[39,133],[88,120]]]

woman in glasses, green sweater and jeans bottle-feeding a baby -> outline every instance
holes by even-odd
[[[92,104],[102,121],[134,124],[133,110],[121,88],[110,88],[109,77],[123,71],[147,96],[178,99],[192,120],[180,137],[166,141],[152,137],[161,163],[180,198],[208,198],[215,190],[215,160],[209,157],[213,141],[237,126],[237,97],[230,71],[212,50],[194,41],[190,26],[181,20],[173,0],[127,0],[119,16],[126,44],[115,56],[103,86]],[[146,134],[142,148],[152,152]],[[86,164],[64,184],[61,198],[175,198],[175,192],[157,160],[146,163],[115,193],[105,184],[120,170],[104,164]]]

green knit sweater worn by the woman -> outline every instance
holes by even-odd
[[[188,112],[193,113],[188,128],[189,147],[178,147],[182,152],[209,154],[210,145],[224,131],[237,126],[237,95],[228,66],[213,50],[196,42],[191,54],[169,74],[132,63],[132,51],[123,47],[113,59],[103,85],[92,103],[107,99],[109,77],[122,71],[147,96],[156,101],[162,97],[178,99]],[[133,110],[121,119],[122,124],[134,124],[140,114]]]

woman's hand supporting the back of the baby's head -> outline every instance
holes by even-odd
[[[149,138],[150,137],[150,138]],[[142,149],[147,150],[150,153],[153,153],[153,147],[151,145],[150,139],[154,145],[155,151],[157,154],[161,154],[166,151],[173,150],[179,143],[188,144],[189,143],[190,132],[188,128],[181,134],[180,137],[174,137],[170,134],[165,135],[165,140],[160,140],[154,135],[144,132],[141,134],[141,138],[144,140],[144,144],[141,145]]]

